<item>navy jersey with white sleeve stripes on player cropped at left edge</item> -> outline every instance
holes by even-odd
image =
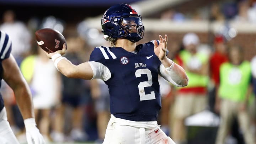
[[[10,57],[11,53],[11,40],[9,39],[8,34],[0,31],[0,87],[1,87],[1,80],[3,75],[3,68],[2,68],[2,60],[7,59]],[[0,94],[0,111],[4,107],[4,101]]]

